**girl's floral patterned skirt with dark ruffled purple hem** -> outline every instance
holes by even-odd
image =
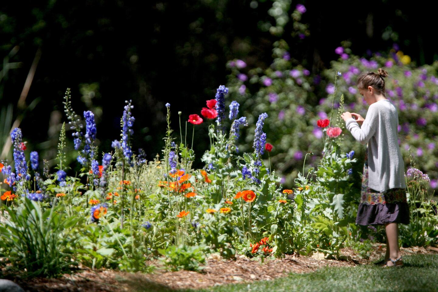
[[[388,223],[409,224],[409,206],[406,189],[389,189],[384,192],[368,187],[368,155],[365,152],[364,173],[356,224],[385,225]]]

